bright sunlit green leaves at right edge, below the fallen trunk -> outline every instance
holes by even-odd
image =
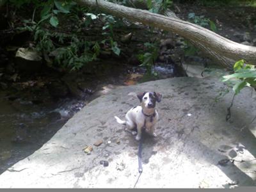
[[[249,65],[244,60],[234,64],[234,74],[223,76],[221,81],[234,83],[235,94],[239,93],[245,86],[256,88],[256,70],[254,65]]]

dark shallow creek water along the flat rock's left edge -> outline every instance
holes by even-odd
[[[0,92],[0,173],[40,148],[84,102],[63,99],[33,104]]]

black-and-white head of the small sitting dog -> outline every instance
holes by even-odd
[[[162,99],[162,95],[156,92],[143,92],[139,93],[137,96],[145,108],[155,108],[156,102],[161,102]]]

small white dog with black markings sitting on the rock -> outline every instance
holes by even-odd
[[[121,120],[118,116],[115,116],[116,122],[126,125],[126,130],[132,130],[136,127],[137,141],[141,139],[143,128],[145,128],[148,134],[156,137],[157,134],[154,132],[154,125],[159,118],[156,111],[156,102],[161,102],[162,95],[156,92],[143,92],[139,93],[137,97],[140,99],[141,105],[127,111],[125,120]],[[136,132],[132,132],[132,134],[136,134]]]

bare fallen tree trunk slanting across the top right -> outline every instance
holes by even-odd
[[[217,64],[225,67],[232,68],[234,63],[241,59],[256,65],[256,47],[232,42],[208,29],[173,17],[173,15],[166,17],[146,10],[129,8],[102,0],[77,0],[77,3],[97,7],[103,12],[116,17],[125,17],[131,21],[177,33],[209,54],[218,61]]]

